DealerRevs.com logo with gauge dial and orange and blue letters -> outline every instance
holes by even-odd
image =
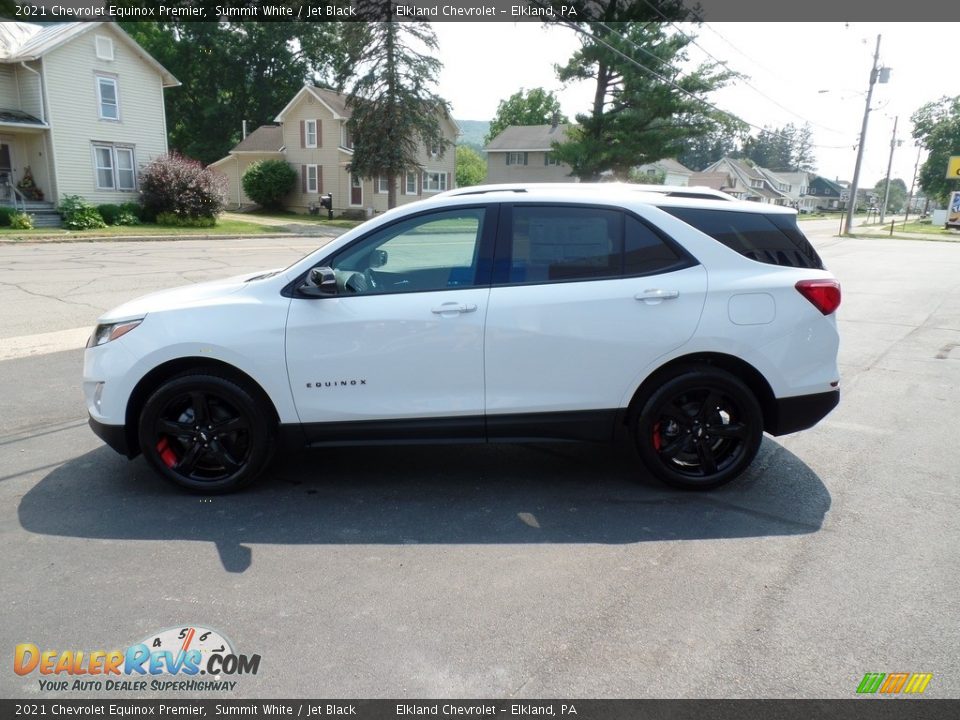
[[[20,643],[17,675],[38,675],[41,691],[232,691],[239,675],[256,675],[259,655],[234,652],[223,634],[198,625],[167,628],[124,650],[45,650]]]

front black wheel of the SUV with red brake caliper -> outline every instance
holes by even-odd
[[[164,478],[222,494],[253,482],[273,455],[273,414],[247,388],[207,372],[171,378],[140,412],[140,449]]]

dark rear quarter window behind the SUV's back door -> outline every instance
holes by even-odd
[[[661,210],[751,260],[768,265],[823,268],[820,257],[792,216],[683,207]]]

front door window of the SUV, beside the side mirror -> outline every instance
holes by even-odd
[[[373,232],[331,263],[341,292],[423,292],[471,286],[484,210],[420,215]]]

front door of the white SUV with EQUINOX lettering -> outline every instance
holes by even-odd
[[[333,297],[294,297],[290,384],[309,442],[480,437],[496,208],[433,210],[329,258]]]

